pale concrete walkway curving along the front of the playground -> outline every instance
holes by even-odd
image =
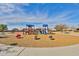
[[[53,48],[27,48],[0,45],[0,56],[79,56],[79,44]]]

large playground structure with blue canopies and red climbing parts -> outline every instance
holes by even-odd
[[[23,29],[23,34],[48,34],[48,25],[43,24],[43,28],[34,28],[34,25],[26,25],[26,28]]]

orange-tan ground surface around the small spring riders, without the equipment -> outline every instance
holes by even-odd
[[[21,33],[22,34],[22,33]],[[7,38],[0,38],[1,44],[12,44],[17,43],[17,46],[24,47],[59,47],[59,46],[68,46],[79,44],[79,33],[60,33],[55,32],[55,34],[39,34],[37,35],[39,40],[35,40],[35,35],[22,35],[23,38],[17,39],[16,33],[7,33]],[[52,35],[54,40],[51,40],[49,36]]]

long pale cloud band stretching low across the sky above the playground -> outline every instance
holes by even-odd
[[[23,11],[22,11],[23,12]],[[39,14],[38,16],[35,15],[21,15],[21,16],[17,16],[17,15],[9,15],[9,16],[3,16],[0,17],[0,19],[2,20],[1,23],[19,23],[19,22],[41,22],[41,23],[48,23],[48,24],[57,24],[57,23],[61,23],[63,21],[68,20],[69,18],[73,17],[73,16],[67,16],[68,14],[73,13],[73,12],[65,12],[65,13],[61,13],[59,15],[56,15],[55,17],[52,18],[48,18],[47,14]]]

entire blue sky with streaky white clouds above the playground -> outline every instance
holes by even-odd
[[[8,29],[25,28],[26,24],[42,27],[48,24],[79,25],[78,3],[0,3],[0,24]]]

